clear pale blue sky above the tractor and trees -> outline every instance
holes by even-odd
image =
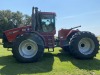
[[[81,25],[80,31],[100,35],[100,0],[0,0],[0,10],[31,15],[33,6],[56,13],[57,32]]]

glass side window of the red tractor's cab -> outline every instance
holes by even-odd
[[[55,16],[54,15],[42,15],[41,25],[43,32],[52,32],[55,29]]]

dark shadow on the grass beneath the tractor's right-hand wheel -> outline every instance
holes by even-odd
[[[71,62],[74,66],[79,69],[85,70],[100,70],[100,60],[93,58],[88,60],[80,60],[72,57],[68,52],[65,53],[63,50],[60,50],[61,53],[57,54],[61,62]]]

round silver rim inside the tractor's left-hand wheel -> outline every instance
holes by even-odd
[[[24,40],[19,45],[19,53],[24,58],[32,58],[36,55],[38,46],[31,39]]]

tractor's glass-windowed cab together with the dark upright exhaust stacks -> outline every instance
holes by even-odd
[[[32,12],[32,26],[35,31],[50,33],[55,30],[55,16],[54,12],[41,12],[38,8],[33,7]]]

